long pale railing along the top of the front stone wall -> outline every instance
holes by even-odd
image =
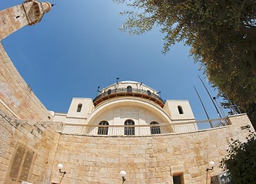
[[[214,127],[210,126],[214,124]],[[85,125],[66,123],[63,134],[88,136],[150,136],[166,133],[190,133],[229,125],[228,120],[214,119],[180,123],[159,123],[147,125]]]

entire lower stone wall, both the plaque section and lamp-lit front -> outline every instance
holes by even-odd
[[[15,120],[0,111],[0,184],[59,183],[58,163],[67,172],[62,184],[121,183],[121,170],[127,172],[125,184],[173,183],[177,174],[185,183],[210,183],[222,172],[218,166],[228,141],[244,141],[249,133],[241,129],[251,126],[245,114],[229,121],[192,133],[77,136],[58,133],[62,123]],[[206,172],[210,161],[216,166]]]

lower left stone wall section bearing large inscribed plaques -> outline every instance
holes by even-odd
[[[0,111],[0,183],[48,183],[62,123],[10,119]]]

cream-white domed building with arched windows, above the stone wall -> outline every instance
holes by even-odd
[[[73,98],[68,113],[55,113],[53,120],[65,123],[65,133],[88,135],[148,135],[198,130],[188,100],[165,102],[156,90],[134,81],[105,87],[94,100]]]

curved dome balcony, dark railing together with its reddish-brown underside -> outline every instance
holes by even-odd
[[[93,100],[93,103],[95,106],[97,106],[99,103],[109,98],[124,96],[143,97],[154,101],[161,107],[165,106],[165,100],[162,100],[161,97],[159,97],[157,94],[153,94],[149,90],[138,90],[136,88],[132,88],[131,90],[128,90],[127,88],[116,88],[113,90],[108,90],[105,93],[98,94],[98,96]]]

